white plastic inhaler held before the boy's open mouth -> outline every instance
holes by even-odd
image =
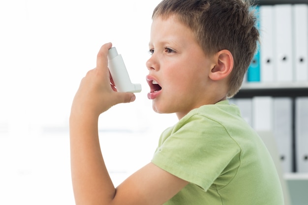
[[[119,92],[141,92],[141,84],[131,83],[122,56],[115,47],[108,51],[108,67]]]

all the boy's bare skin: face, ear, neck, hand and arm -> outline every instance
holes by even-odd
[[[163,28],[163,29],[162,29]],[[230,52],[208,58],[187,27],[170,17],[154,19],[147,61],[150,84],[161,91],[150,94],[154,111],[176,113],[225,99],[227,77],[233,67]],[[98,117],[110,107],[135,100],[133,93],[117,92],[109,70],[107,43],[97,54],[96,68],[82,79],[74,97],[70,124],[71,175],[76,205],[162,205],[188,182],[153,163],[145,165],[114,187],[101,154]],[[167,49],[166,49],[167,48]],[[181,102],[181,103],[180,103]]]

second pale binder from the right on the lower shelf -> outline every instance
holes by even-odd
[[[274,137],[277,142],[280,161],[284,173],[293,171],[292,149],[292,99],[274,98]]]

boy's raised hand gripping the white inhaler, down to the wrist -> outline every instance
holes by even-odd
[[[135,100],[135,95],[129,92],[117,92],[108,69],[108,50],[111,43],[104,44],[96,60],[96,68],[90,70],[82,79],[74,97],[71,112],[81,115],[98,117],[112,106]]]

